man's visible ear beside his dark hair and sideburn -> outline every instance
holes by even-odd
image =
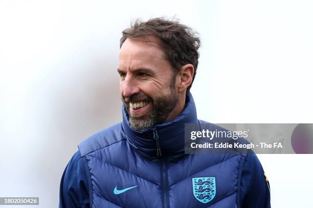
[[[192,64],[186,64],[181,67],[180,72],[178,72],[178,92],[183,92],[191,85],[193,73],[194,68]]]

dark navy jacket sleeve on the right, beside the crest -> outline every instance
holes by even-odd
[[[249,152],[245,158],[240,183],[242,208],[270,208],[270,183],[256,154]]]

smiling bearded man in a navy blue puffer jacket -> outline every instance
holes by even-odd
[[[270,207],[254,153],[184,152],[185,123],[206,123],[189,92],[199,45],[190,28],[164,18],[123,31],[123,121],[79,144],[61,179],[60,207]]]

